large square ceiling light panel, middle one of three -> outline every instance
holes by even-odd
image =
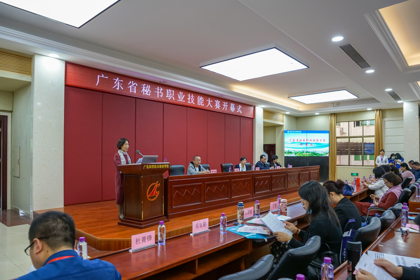
[[[200,68],[244,81],[308,68],[277,48],[204,64]]]

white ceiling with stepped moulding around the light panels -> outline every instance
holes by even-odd
[[[419,100],[420,67],[396,62],[398,47],[377,12],[401,2],[122,0],[80,29],[0,3],[0,48],[55,52],[66,61],[167,80],[293,116],[401,108],[385,88],[404,101]],[[337,35],[344,40],[332,42]],[[242,82],[199,68],[274,43],[309,68]],[[353,62],[339,48],[344,43],[351,43],[375,72],[366,74]],[[333,108],[332,103],[305,105],[287,98],[336,89],[359,99]]]

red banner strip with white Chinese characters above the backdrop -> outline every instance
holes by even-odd
[[[251,105],[72,63],[66,63],[65,84],[254,118]]]

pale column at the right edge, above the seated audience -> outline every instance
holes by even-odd
[[[419,161],[418,101],[404,102],[404,161]]]

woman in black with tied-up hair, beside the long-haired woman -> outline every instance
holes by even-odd
[[[324,188],[328,192],[331,205],[335,205],[334,211],[339,217],[343,233],[346,231],[345,226],[349,219],[356,220],[353,229],[359,229],[362,227],[359,210],[357,210],[357,207],[353,202],[351,202],[347,197],[343,195],[343,189],[345,185],[346,184],[342,180],[337,180],[337,182],[328,180],[323,183]],[[347,230],[349,229],[350,228],[347,228]]]

